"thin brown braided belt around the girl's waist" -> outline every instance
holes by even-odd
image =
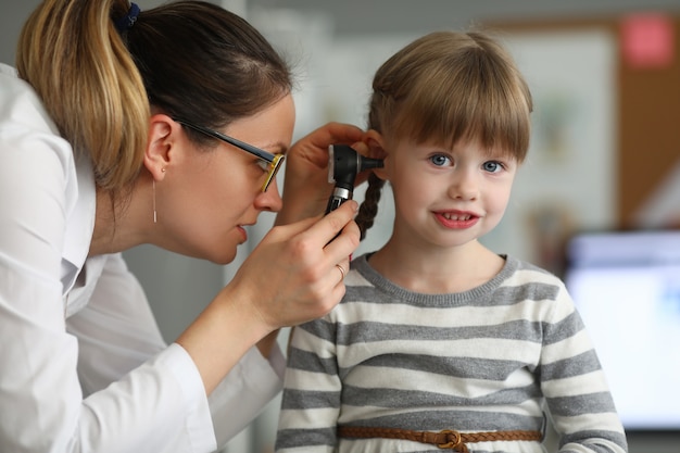
[[[431,443],[440,449],[450,449],[461,453],[468,453],[468,442],[487,442],[493,440],[542,440],[540,431],[490,431],[490,432],[458,432],[444,429],[439,432],[412,431],[399,428],[368,428],[354,426],[338,427],[338,437],[341,438],[386,438],[412,440],[420,443]]]

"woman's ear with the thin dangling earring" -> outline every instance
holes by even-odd
[[[144,166],[154,180],[162,180],[172,163],[173,134],[181,126],[169,116],[152,115],[149,119],[149,138],[144,151]]]

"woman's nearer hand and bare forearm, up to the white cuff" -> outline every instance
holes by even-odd
[[[177,339],[207,393],[268,334],[323,316],[340,302],[349,256],[360,242],[356,209],[348,201],[324,217],[274,227]]]

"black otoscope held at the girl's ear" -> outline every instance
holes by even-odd
[[[335,183],[336,187],[328,199],[326,214],[352,200],[354,179],[360,172],[381,167],[381,159],[365,158],[347,144],[328,147],[328,183]]]

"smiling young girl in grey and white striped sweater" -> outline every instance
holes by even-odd
[[[625,452],[595,351],[563,282],[478,239],[507,206],[532,109],[508,53],[433,33],[377,72],[360,227],[391,184],[393,234],[357,257],[326,317],[294,330],[278,452]]]

